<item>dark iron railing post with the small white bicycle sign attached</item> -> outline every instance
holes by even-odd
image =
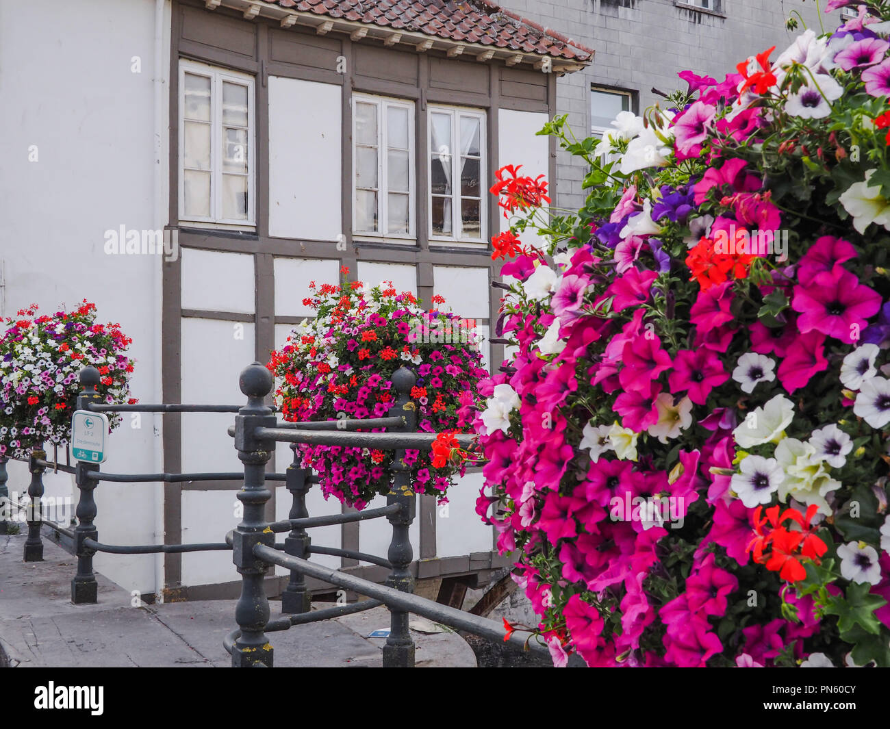
[[[90,402],[100,402],[101,395],[96,392],[100,382],[99,370],[85,367],[80,371],[80,385],[77,395],[77,409],[84,410]],[[99,470],[99,464],[77,462],[74,480],[77,483],[77,527],[74,530],[74,554],[77,555],[77,574],[71,580],[71,602],[76,605],[93,604],[98,601],[99,583],[93,574],[94,549],[86,547],[85,539],[99,539],[99,531],[93,524],[96,518],[96,502],[93,491],[99,482],[89,477],[90,472]]]

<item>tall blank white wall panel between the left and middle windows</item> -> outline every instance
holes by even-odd
[[[337,240],[341,217],[342,89],[269,77],[269,234]]]

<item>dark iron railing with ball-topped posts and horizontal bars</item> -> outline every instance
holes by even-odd
[[[231,550],[232,562],[241,575],[241,595],[235,608],[238,628],[231,632],[223,645],[231,654],[233,667],[270,667],[273,649],[266,633],[287,630],[318,620],[329,620],[355,612],[386,605],[391,615],[390,633],[383,649],[384,667],[413,667],[415,646],[409,632],[409,613],[421,615],[452,628],[458,628],[478,636],[501,641],[504,628],[494,620],[475,616],[447,605],[413,595],[414,577],[410,571],[413,550],[409,540],[409,527],[417,510],[417,495],[410,483],[410,467],[405,464],[407,449],[430,450],[435,441],[434,433],[418,433],[415,403],[409,393],[416,377],[409,369],[398,369],[392,376],[396,398],[387,417],[364,419],[339,419],[322,422],[281,423],[274,410],[265,404],[271,393],[272,377],[268,369],[255,362],[241,372],[239,386],[247,396],[247,404],[237,408],[221,405],[108,405],[97,402],[96,392],[99,373],[92,367],[80,374],[83,390],[77,398],[77,409],[94,412],[235,412],[235,425],[229,429],[234,438],[243,473],[220,474],[109,474],[97,464],[80,462],[71,468],[45,460],[42,450],[35,450],[28,461],[32,474],[28,495],[31,504],[28,511],[28,539],[25,542],[25,561],[33,562],[43,557],[40,527],[47,523],[53,529],[68,536],[74,542],[77,555],[77,574],[71,581],[71,600],[75,604],[97,602],[97,581],[93,572],[93,555],[97,552],[116,555],[147,555],[160,553],[186,553]],[[357,432],[368,428],[385,427],[385,433]],[[457,435],[464,447],[473,441],[471,435]],[[276,442],[290,442],[294,459],[285,474],[269,474],[265,468],[275,450]],[[392,459],[391,487],[386,506],[348,514],[310,516],[306,508],[306,494],[318,479],[312,470],[301,466],[300,444],[340,445],[364,447],[376,450],[394,450]],[[61,470],[75,475],[79,498],[77,502],[77,526],[64,529],[52,522],[43,522],[40,499],[44,488],[42,475],[47,469]],[[0,488],[5,486],[4,461],[0,459]],[[189,545],[108,545],[101,543],[95,525],[97,508],[93,491],[99,482],[185,482],[185,481],[243,481],[237,498],[244,506],[242,521],[227,535],[225,542]],[[265,506],[271,491],[265,483],[284,482],[291,493],[292,504],[288,518],[280,522],[267,522]],[[0,496],[3,492],[0,491]],[[308,529],[364,522],[385,518],[392,526],[392,539],[386,557],[337,547],[312,545]],[[287,532],[283,543],[276,543],[275,536]],[[376,564],[389,570],[384,585],[362,579],[343,571],[312,563],[312,555],[334,555]],[[282,616],[271,619],[270,605],[263,579],[275,565],[290,571],[287,587],[281,595]],[[337,605],[312,611],[311,595],[306,587],[306,577],[319,579],[329,585],[341,587],[368,597],[360,603]],[[511,636],[507,645],[516,650],[546,652],[539,644],[526,644],[520,636]]]

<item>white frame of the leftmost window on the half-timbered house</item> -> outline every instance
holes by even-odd
[[[210,215],[185,214],[185,74],[210,78]],[[247,86],[247,220],[223,218],[223,82]],[[255,229],[256,227],[256,113],[255,80],[247,74],[179,61],[179,220],[207,223],[209,227]]]

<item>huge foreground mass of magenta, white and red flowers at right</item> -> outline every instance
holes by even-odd
[[[602,141],[554,120],[577,214],[500,171],[478,511],[557,665],[890,666],[886,20],[684,71]]]

